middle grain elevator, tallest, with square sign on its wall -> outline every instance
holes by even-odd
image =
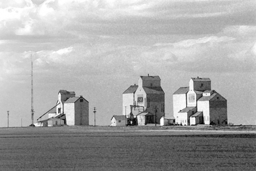
[[[159,124],[165,112],[164,96],[159,76],[140,76],[138,85],[123,92],[123,115],[133,115],[138,125]]]

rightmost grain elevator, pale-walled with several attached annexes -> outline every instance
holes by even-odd
[[[173,93],[173,116],[180,125],[227,124],[227,99],[211,90],[209,78],[191,78]]]

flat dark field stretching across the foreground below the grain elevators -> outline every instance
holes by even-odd
[[[0,170],[255,170],[249,130],[2,128]]]

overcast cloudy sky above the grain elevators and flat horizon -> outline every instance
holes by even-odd
[[[122,115],[122,93],[158,75],[165,111],[193,77],[211,79],[228,122],[256,124],[255,0],[0,1],[0,127],[28,126],[59,90],[89,101],[90,124]]]

